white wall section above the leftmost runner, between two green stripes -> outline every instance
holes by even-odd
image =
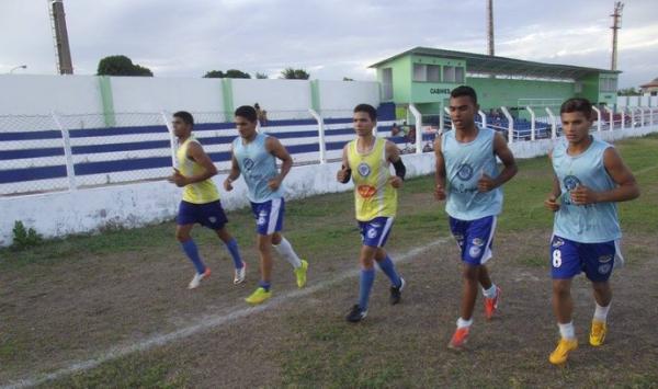
[[[220,79],[112,77],[114,112],[224,111]]]

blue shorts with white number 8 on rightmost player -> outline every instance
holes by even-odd
[[[623,263],[623,258],[614,240],[603,243],[579,243],[557,236],[551,240],[553,279],[570,279],[585,272],[591,282],[605,282],[617,261]]]

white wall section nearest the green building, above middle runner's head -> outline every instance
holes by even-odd
[[[345,117],[344,111],[356,104],[379,105],[379,83],[364,81],[318,81],[320,105],[325,117]],[[341,115],[342,113],[342,115]],[[337,115],[332,115],[337,114]]]

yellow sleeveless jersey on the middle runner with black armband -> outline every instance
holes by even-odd
[[[360,153],[358,139],[348,144],[348,162],[354,181],[354,207],[356,220],[367,221],[376,217],[395,217],[397,190],[390,185],[389,162],[386,160],[386,139],[376,138],[367,153]]]

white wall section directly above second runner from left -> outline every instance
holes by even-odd
[[[268,118],[310,118],[310,81],[234,79],[234,106],[259,103]]]

